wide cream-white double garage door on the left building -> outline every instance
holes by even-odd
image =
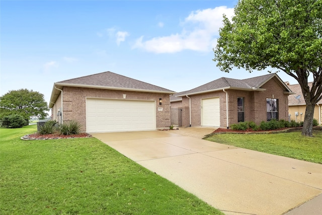
[[[155,130],[155,102],[87,99],[86,131]]]

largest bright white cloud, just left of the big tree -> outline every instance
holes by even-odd
[[[153,53],[175,53],[182,50],[211,51],[216,43],[222,15],[233,16],[233,9],[226,6],[193,11],[182,23],[181,33],[154,37],[143,41],[138,38],[132,48],[141,48]]]

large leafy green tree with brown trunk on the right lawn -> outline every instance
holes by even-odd
[[[296,79],[306,102],[302,135],[312,136],[314,106],[322,98],[322,1],[239,0],[223,24],[213,49],[219,68],[277,68]]]

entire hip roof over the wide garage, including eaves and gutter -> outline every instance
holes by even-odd
[[[60,91],[57,90],[57,88],[61,90],[63,87],[96,88],[167,94],[175,93],[174,91],[162,87],[118,75],[116,73],[112,73],[111,71],[105,71],[104,73],[98,73],[54,83],[50,98],[51,102],[55,102],[60,94]],[[52,106],[53,105],[49,105],[49,107]]]

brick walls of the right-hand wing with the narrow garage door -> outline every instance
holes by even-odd
[[[260,124],[267,121],[266,99],[278,99],[279,119],[288,120],[288,95],[277,79],[271,79],[261,88],[265,91],[226,90],[228,92],[228,126],[237,123],[237,98],[244,98],[245,121],[254,121]],[[206,98],[219,97],[220,127],[226,127],[226,93],[215,91],[189,96],[191,98],[191,126],[201,125],[201,101]],[[179,102],[177,102],[179,103]],[[177,104],[180,106],[179,104]],[[182,122],[183,126],[190,126],[189,98],[182,97]]]

